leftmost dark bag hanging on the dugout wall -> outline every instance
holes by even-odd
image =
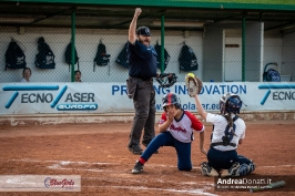
[[[27,65],[26,55],[18,43],[11,39],[6,52],[6,70],[10,69],[24,69]]]

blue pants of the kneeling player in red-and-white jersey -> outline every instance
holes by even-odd
[[[191,171],[191,142],[183,143],[175,140],[170,132],[163,132],[156,135],[142,154],[146,162],[161,146],[173,146],[177,154],[179,171]]]

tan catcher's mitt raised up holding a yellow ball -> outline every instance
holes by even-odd
[[[203,82],[193,73],[185,75],[185,85],[187,94],[193,97],[195,94],[200,94],[203,87]]]

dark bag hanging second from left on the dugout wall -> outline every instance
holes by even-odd
[[[35,54],[34,64],[40,69],[55,69],[54,54],[43,37],[38,40],[38,50],[39,53]]]

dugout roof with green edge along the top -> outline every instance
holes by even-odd
[[[165,24],[183,30],[241,22],[245,17],[246,21],[263,21],[265,31],[295,31],[294,0],[2,0],[0,27],[71,28],[74,11],[78,29],[128,29],[136,7],[143,9],[139,25],[151,29],[161,28],[161,16]]]

